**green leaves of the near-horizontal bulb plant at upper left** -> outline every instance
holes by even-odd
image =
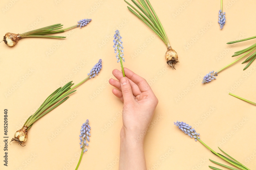
[[[44,27],[44,28],[39,28],[37,30],[32,30],[32,31],[28,31],[25,32],[23,34],[20,34],[20,36],[22,38],[26,38],[26,37],[45,37],[45,38],[66,38],[63,36],[50,36],[48,34],[56,34],[56,33],[61,33],[64,32],[65,30],[59,30],[63,25],[61,24],[54,24],[54,25],[50,25],[48,27]],[[56,31],[57,30],[57,31]]]

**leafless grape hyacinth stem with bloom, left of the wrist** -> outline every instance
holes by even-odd
[[[80,145],[81,145],[80,148],[82,148],[82,152],[81,152],[80,159],[78,161],[78,164],[77,164],[77,167],[75,170],[77,170],[80,165],[83,153],[87,152],[87,149],[85,147],[88,146],[89,145],[88,142],[90,142],[90,138],[89,138],[89,136],[91,136],[90,131],[91,131],[91,127],[89,125],[89,120],[87,119],[86,122],[82,124],[81,129],[80,129],[79,137],[80,137]],[[86,140],[88,142],[86,142]]]

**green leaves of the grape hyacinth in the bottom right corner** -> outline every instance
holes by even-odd
[[[219,147],[218,147],[219,148]],[[220,149],[220,148],[219,148]],[[221,150],[221,149],[220,149]],[[243,170],[250,170],[249,168],[247,168],[246,166],[244,166],[243,164],[241,164],[240,162],[238,162],[237,160],[235,160],[234,158],[232,158],[230,155],[228,155],[226,152],[224,152],[223,150],[221,150],[224,154],[226,154],[228,157],[220,154],[220,153],[214,153],[215,155],[219,156],[221,158],[224,157],[225,159],[229,160],[230,162],[232,162],[233,165],[235,165],[236,167],[240,168],[240,169],[243,169]],[[210,159],[209,159],[210,160]],[[232,168],[230,166],[227,166],[227,165],[224,165],[224,164],[221,164],[221,163],[218,163],[218,162],[215,162],[213,160],[210,160],[211,162],[217,164],[217,165],[220,165],[220,166],[223,166],[223,167],[226,167],[226,168],[229,168],[229,169],[232,169],[232,170],[239,170],[239,169],[236,169],[236,168]],[[222,169],[219,169],[219,168],[215,168],[215,167],[212,167],[212,166],[209,166],[211,169],[215,169],[215,170],[222,170]]]

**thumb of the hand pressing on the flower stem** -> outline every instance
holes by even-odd
[[[132,87],[129,80],[126,77],[122,77],[120,82],[121,82],[121,90],[123,94],[124,103],[134,100],[134,97],[132,94]]]

